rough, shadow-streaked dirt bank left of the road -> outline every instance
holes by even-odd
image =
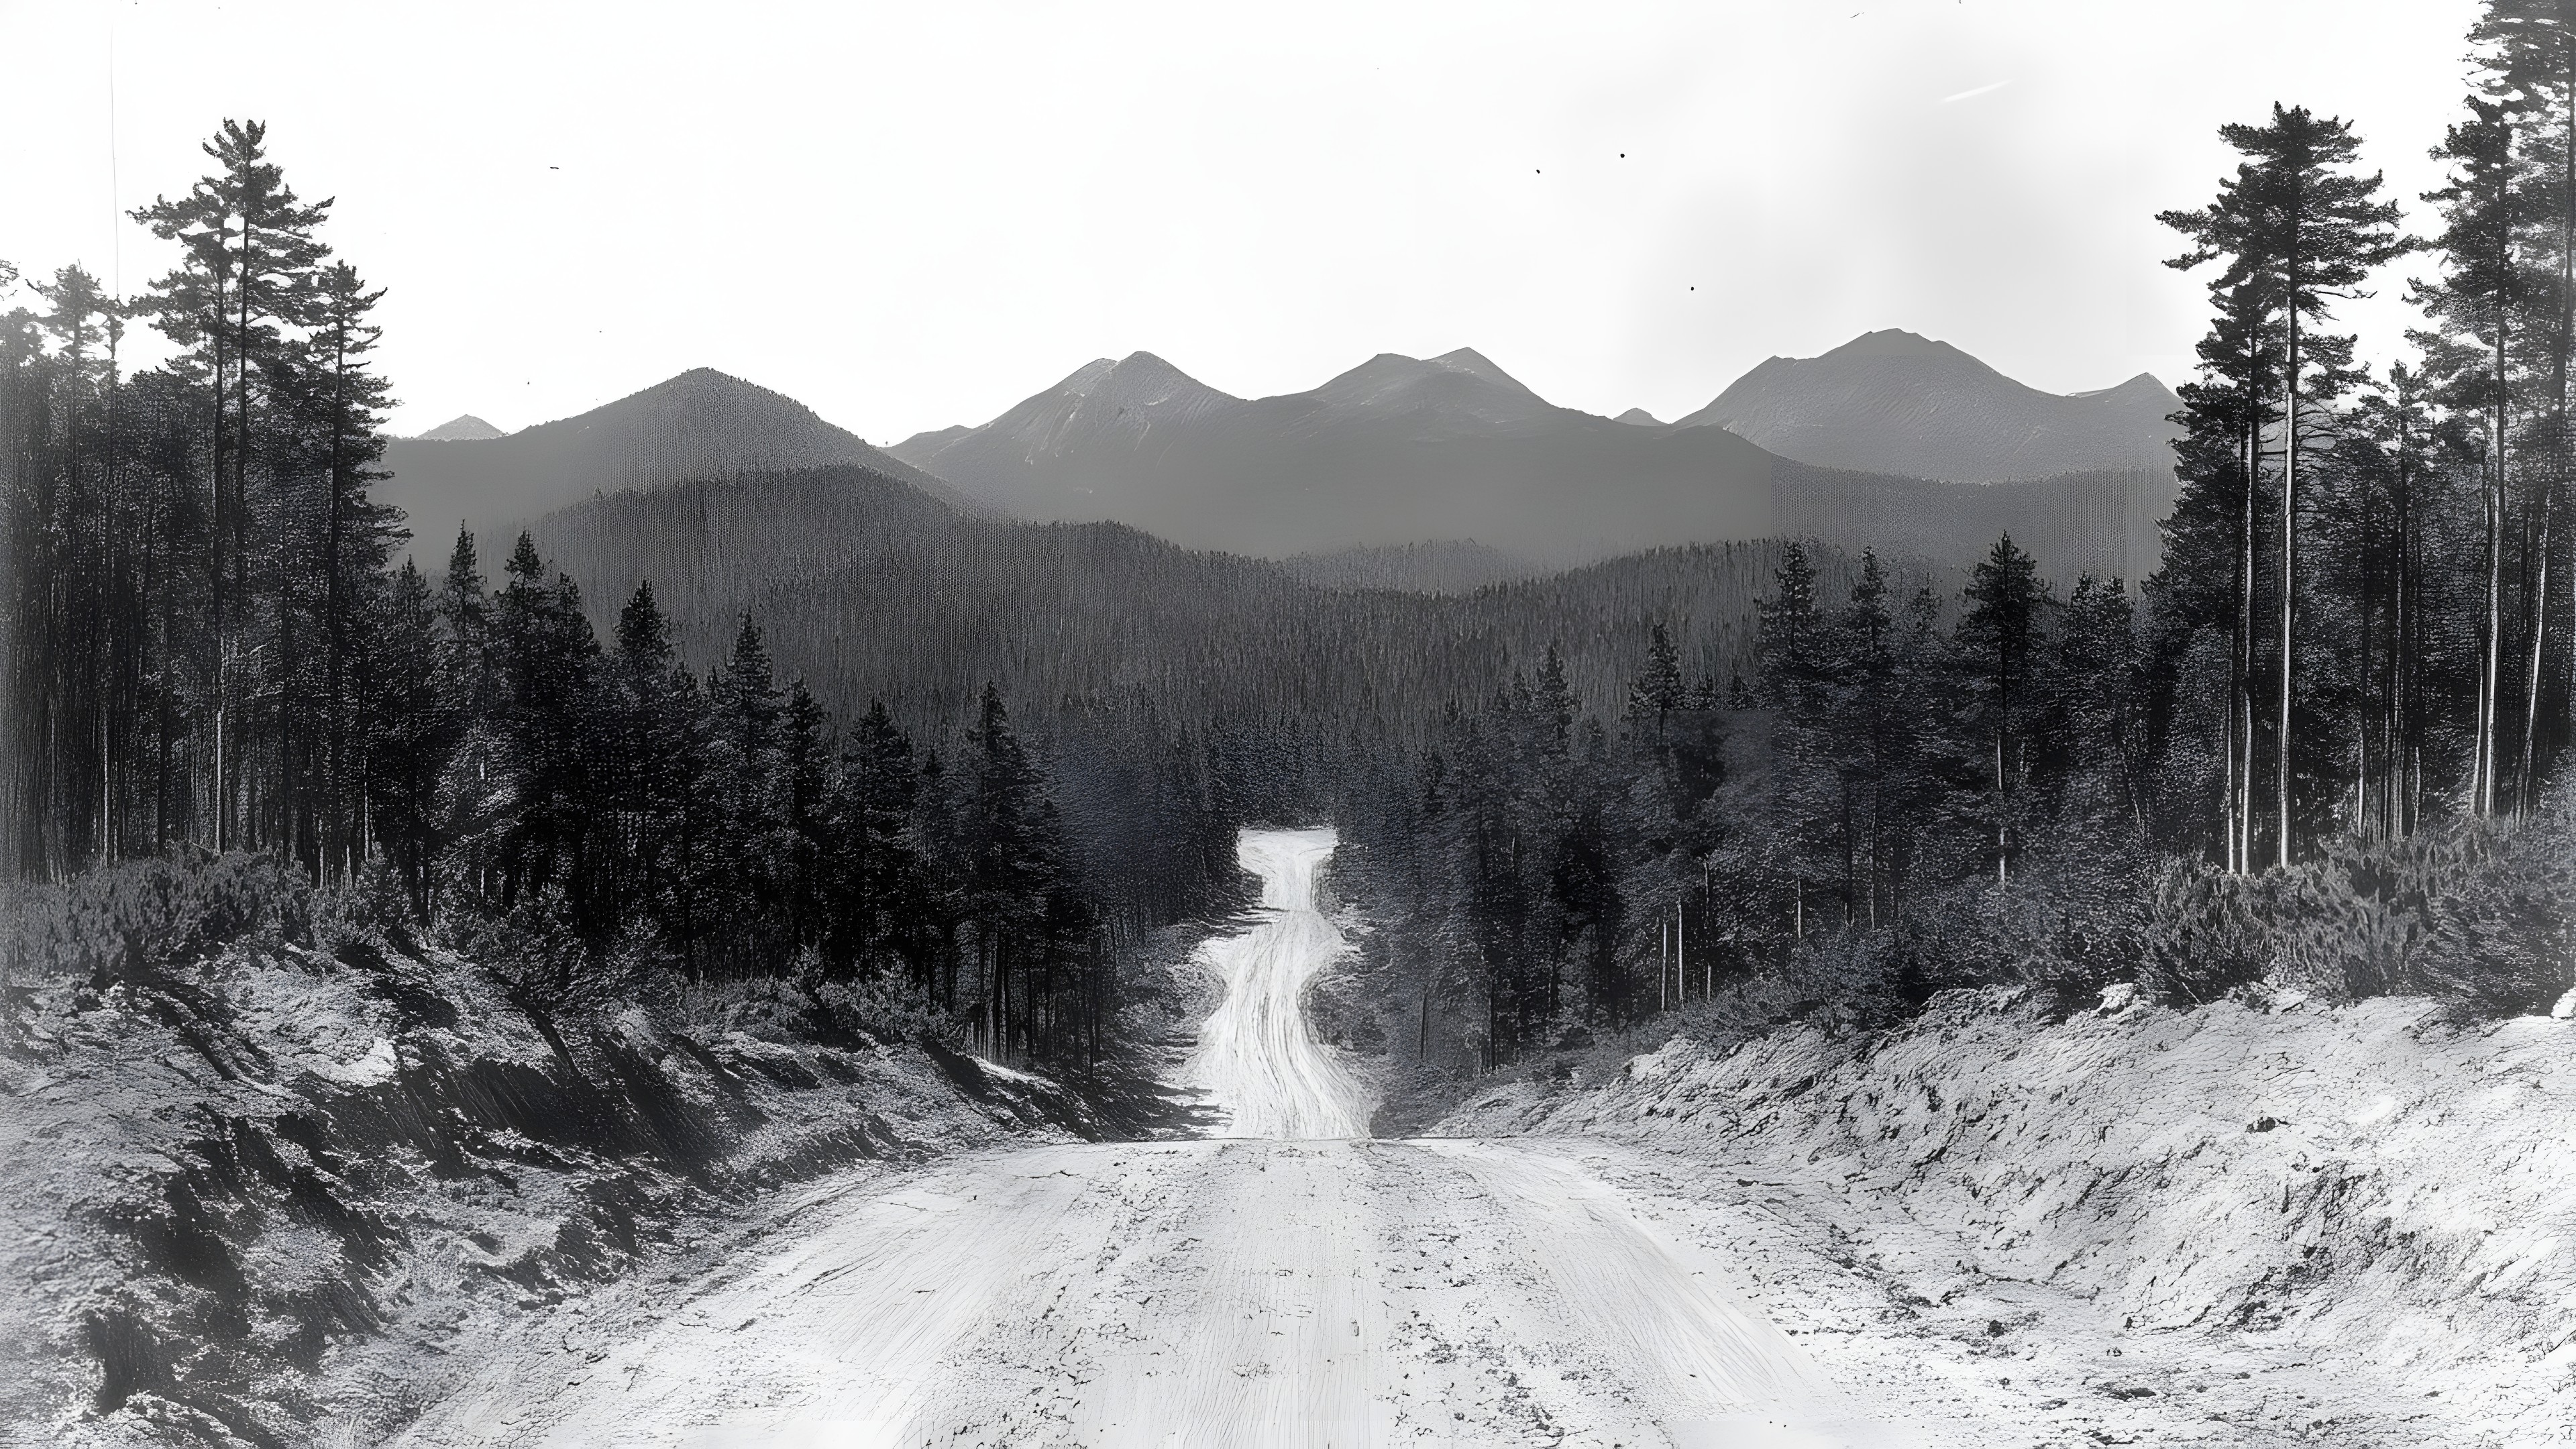
[[[376,1441],[446,1359],[783,1183],[1100,1134],[1064,1088],[757,1011],[541,1013],[443,951],[39,977],[0,1049],[0,1434]]]

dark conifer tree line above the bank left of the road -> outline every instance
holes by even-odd
[[[471,534],[397,562],[381,291],[260,124],[204,150],[134,211],[180,253],[147,294],[67,266],[0,315],[8,874],[250,851],[420,923],[891,977],[989,1049],[1097,1055],[1105,920],[1002,694],[925,748],[884,704],[835,722],[750,616],[696,673],[649,580],[603,647],[526,534],[500,580]],[[137,320],[173,361],[121,366]]]

